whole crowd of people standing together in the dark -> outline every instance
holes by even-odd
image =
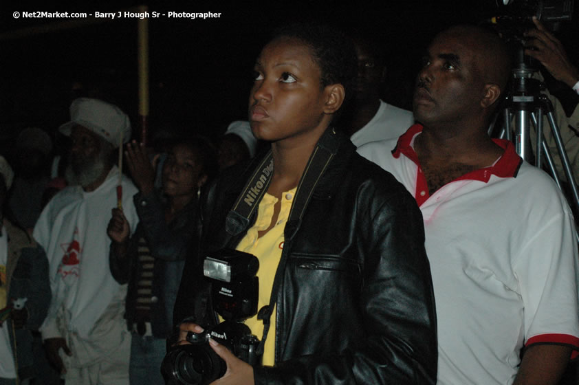
[[[549,98],[579,177],[579,70],[534,23],[525,53],[571,91]],[[58,129],[67,155],[23,130],[15,172],[0,157],[0,385],[180,384],[166,353],[208,332],[216,385],[576,384],[573,212],[488,135],[509,49],[480,26],[440,32],[413,111],[380,99],[383,55],[327,25],[279,28],[248,120],[215,143],[155,150],[87,97]],[[259,292],[223,305],[236,293],[208,266],[248,254]],[[237,306],[256,364],[215,331]]]

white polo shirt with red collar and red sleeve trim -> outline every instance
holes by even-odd
[[[412,148],[398,142],[358,152],[393,173],[416,198],[437,309],[438,384],[512,384],[523,346],[579,348],[577,243],[565,197],[507,141],[493,166],[428,194]],[[396,146],[394,152],[392,149]]]

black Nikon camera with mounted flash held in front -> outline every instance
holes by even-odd
[[[210,347],[209,338],[248,364],[261,365],[259,339],[242,323],[257,314],[258,269],[256,256],[245,252],[224,249],[206,256],[203,274],[212,281],[211,298],[223,322],[213,328],[201,325],[203,333],[187,333],[190,344],[168,351],[161,364],[167,384],[205,385],[225,374],[227,365]]]

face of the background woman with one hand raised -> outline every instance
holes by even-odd
[[[173,146],[163,164],[163,192],[168,197],[195,195],[203,181],[200,173],[195,151],[185,144]]]

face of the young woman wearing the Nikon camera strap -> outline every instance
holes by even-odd
[[[296,39],[276,39],[263,48],[254,69],[249,120],[255,137],[317,142],[331,120],[324,112],[329,87],[322,87],[309,47]]]

